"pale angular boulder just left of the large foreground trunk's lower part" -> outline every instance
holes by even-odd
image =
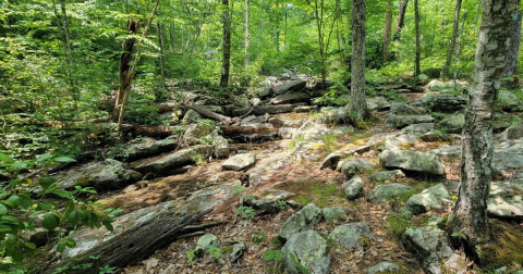
[[[410,214],[422,214],[433,209],[441,209],[445,203],[450,202],[450,195],[442,184],[437,184],[413,195],[405,203],[404,210]]]

